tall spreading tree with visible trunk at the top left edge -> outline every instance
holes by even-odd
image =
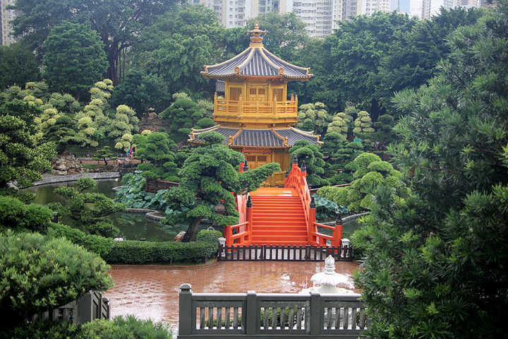
[[[144,0],[17,0],[14,32],[41,56],[49,32],[63,21],[85,23],[99,33],[107,54],[107,78],[116,85],[122,78],[126,49],[139,41],[140,32],[157,16],[171,9],[174,1]],[[44,47],[44,48],[41,48]]]

